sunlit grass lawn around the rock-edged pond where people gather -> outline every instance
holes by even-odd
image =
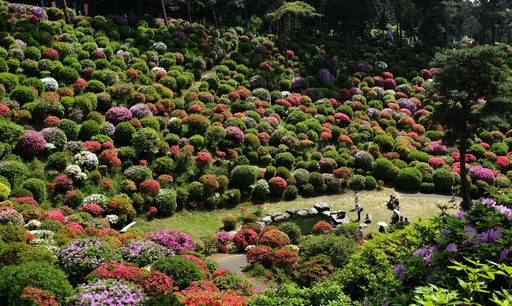
[[[377,232],[378,221],[390,223],[392,212],[386,208],[386,200],[389,195],[395,195],[401,205],[400,211],[404,217],[408,217],[412,222],[419,218],[429,219],[440,214],[440,210],[436,204],[450,204],[450,196],[447,195],[422,195],[422,194],[401,194],[394,189],[383,188],[380,191],[361,191],[359,192],[359,203],[364,208],[361,218],[364,219],[366,213],[370,213],[373,222],[364,229],[364,233]],[[337,195],[319,196],[314,198],[297,198],[294,201],[280,201],[275,203],[263,204],[264,214],[285,212],[290,208],[311,208],[315,203],[328,203],[331,210],[345,210],[351,220],[357,219],[357,213],[354,209],[354,194],[352,191]],[[247,207],[248,212],[254,212],[255,209]],[[457,210],[451,208],[449,214],[455,213]],[[147,221],[144,216],[138,217],[136,227],[141,228],[144,232],[158,231],[164,229],[175,229],[186,232],[192,236],[194,240],[199,240],[205,235],[215,234],[222,229],[222,219],[226,216],[235,218],[241,217],[238,208],[218,209],[214,211],[179,211],[172,217],[154,219]],[[358,222],[359,223],[359,222]],[[239,226],[241,223],[237,223]]]

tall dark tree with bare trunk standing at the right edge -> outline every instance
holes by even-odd
[[[434,89],[440,95],[433,120],[446,131],[444,140],[457,145],[460,154],[462,208],[470,208],[469,182],[465,167],[468,141],[479,126],[509,126],[512,101],[506,63],[499,47],[477,46],[449,50],[436,56]],[[499,116],[497,116],[499,114]]]

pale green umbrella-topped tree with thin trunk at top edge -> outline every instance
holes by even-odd
[[[279,23],[278,37],[284,50],[285,68],[288,68],[288,46],[286,41],[287,19],[289,16],[319,17],[314,7],[304,1],[285,2],[276,11],[267,13],[266,17]]]

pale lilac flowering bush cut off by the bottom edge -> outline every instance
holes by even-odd
[[[146,296],[139,286],[122,279],[99,279],[82,284],[69,300],[70,306],[144,305]]]

